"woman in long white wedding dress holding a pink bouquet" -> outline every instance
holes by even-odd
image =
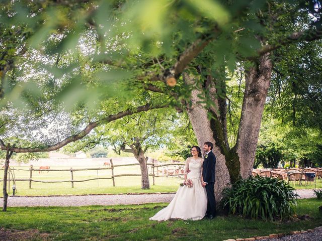
[[[207,194],[202,187],[202,163],[201,150],[198,146],[191,148],[192,157],[188,157],[185,165],[185,181],[191,179],[192,187],[184,185],[179,187],[175,197],[167,207],[157,212],[150,220],[168,220],[181,218],[190,220],[202,219],[207,210]]]

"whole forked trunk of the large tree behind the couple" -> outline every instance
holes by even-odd
[[[228,183],[234,183],[240,176],[247,178],[251,175],[272,73],[272,64],[269,57],[269,53],[261,56],[257,66],[246,71],[246,90],[238,136],[236,145],[232,149],[229,149],[226,138],[225,101],[215,94],[216,88],[212,84],[214,81],[207,79],[207,84],[203,86],[208,89],[208,94],[211,95],[210,98],[216,106],[215,108],[207,108],[200,98],[204,95],[204,92],[201,91],[203,87],[196,85],[198,81],[193,75],[183,74],[187,84],[195,85],[191,94],[191,103],[188,103],[187,106],[187,112],[198,144],[202,147],[204,142],[210,141],[215,145],[213,152],[217,158],[215,183],[217,200],[219,200],[221,191]],[[216,82],[218,81],[220,79],[216,80]],[[223,87],[222,84],[221,87]]]

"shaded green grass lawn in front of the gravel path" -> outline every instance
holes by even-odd
[[[32,240],[223,240],[322,226],[321,201],[298,201],[298,216],[310,220],[265,222],[237,216],[213,220],[149,221],[166,203],[86,207],[11,207],[0,212],[0,228],[36,233]],[[1,233],[1,231],[0,231]]]

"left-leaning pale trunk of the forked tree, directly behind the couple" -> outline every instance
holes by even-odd
[[[193,84],[195,82],[193,77],[186,73],[184,73],[184,79],[187,84]],[[211,122],[208,118],[208,110],[205,108],[204,104],[200,103],[201,99],[198,97],[200,94],[202,94],[202,92],[197,88],[194,88],[191,94],[192,106],[187,107],[187,112],[200,148],[202,149],[205,142],[212,142],[214,144],[212,151],[217,159],[215,170],[215,197],[218,202],[221,198],[222,190],[230,183],[230,177],[225,164],[225,156],[221,153],[213,137]]]

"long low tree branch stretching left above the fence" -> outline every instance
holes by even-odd
[[[77,140],[80,140],[84,137],[86,137],[94,128],[99,127],[101,125],[107,124],[109,122],[115,121],[116,119],[120,119],[124,116],[133,114],[133,113],[139,113],[142,111],[147,111],[150,109],[156,109],[156,108],[166,108],[168,105],[151,105],[149,103],[139,106],[137,108],[131,108],[127,109],[121,112],[118,112],[117,114],[109,115],[105,118],[100,119],[97,122],[89,123],[81,132],[72,135],[70,137],[65,138],[64,140],[50,146],[43,146],[43,147],[11,147],[9,148],[10,151],[16,152],[16,153],[25,153],[25,152],[50,152],[55,151],[63,146],[66,146],[68,143],[75,142]],[[7,150],[7,147],[3,140],[0,139],[0,149],[1,150]]]

